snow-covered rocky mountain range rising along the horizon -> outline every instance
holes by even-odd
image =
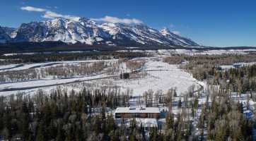
[[[17,29],[0,27],[1,43],[46,41],[110,46],[199,46],[191,39],[175,35],[168,28],[155,30],[146,24],[99,23],[88,18],[55,18],[23,23]]]

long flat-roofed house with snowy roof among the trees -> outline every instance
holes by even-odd
[[[118,107],[115,118],[159,118],[160,110],[157,107]]]

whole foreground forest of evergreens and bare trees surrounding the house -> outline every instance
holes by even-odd
[[[180,113],[170,110],[163,127],[148,130],[135,119],[129,125],[121,119],[117,125],[111,114],[117,106],[129,106],[130,92],[121,94],[117,87],[68,92],[58,87],[50,94],[38,90],[33,96],[0,97],[0,135],[5,140],[252,140],[252,122],[223,90],[208,93],[205,104],[198,103],[201,93],[185,94]],[[172,109],[175,97],[175,89],[155,95],[149,91],[142,101]]]

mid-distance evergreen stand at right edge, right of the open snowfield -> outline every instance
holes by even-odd
[[[256,91],[256,65],[221,69],[219,66],[197,66],[190,71],[198,80],[208,80],[213,85],[227,85],[232,92]]]

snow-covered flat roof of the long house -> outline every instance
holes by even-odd
[[[157,107],[118,107],[115,113],[160,113]]]

